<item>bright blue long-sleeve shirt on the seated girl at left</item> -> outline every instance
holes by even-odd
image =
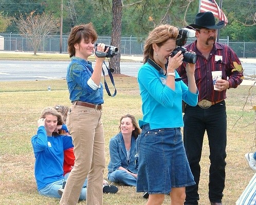
[[[31,138],[35,163],[34,175],[38,191],[46,185],[63,179],[64,150],[74,147],[72,138],[66,135],[48,137],[44,126]]]

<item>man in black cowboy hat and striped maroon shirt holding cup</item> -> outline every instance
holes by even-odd
[[[198,204],[198,183],[200,178],[200,159],[205,131],[210,147],[209,199],[211,205],[221,205],[225,187],[227,117],[226,90],[236,88],[241,82],[243,69],[235,52],[227,45],[215,42],[217,29],[224,21],[215,24],[211,12],[198,13],[195,24],[188,28],[196,31],[196,40],[185,46],[197,55],[195,80],[199,91],[198,105],[186,105],[184,114],[184,144],[190,169],[196,182],[186,188],[184,204]],[[213,86],[212,72],[222,71],[222,79]],[[188,83],[186,63],[178,72],[182,80]]]

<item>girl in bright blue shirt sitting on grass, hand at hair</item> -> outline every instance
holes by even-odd
[[[35,164],[34,175],[40,195],[61,198],[58,190],[65,180],[63,176],[64,150],[74,147],[68,135],[59,135],[58,128],[67,131],[62,116],[52,107],[46,107],[38,120],[38,132],[31,138]],[[80,200],[85,200],[86,188],[82,188]]]

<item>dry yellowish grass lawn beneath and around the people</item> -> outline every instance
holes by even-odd
[[[127,113],[135,115],[137,119],[142,116],[136,78],[114,76],[114,79],[117,96],[113,98],[104,93],[102,119],[106,166],[109,162],[108,142],[119,131],[119,118]],[[50,92],[47,91],[48,84],[52,87]],[[255,146],[253,147],[255,114],[254,110],[251,110],[251,102],[246,103],[249,88],[249,86],[239,86],[227,92],[228,143],[226,188],[223,198],[223,204],[226,205],[235,204],[254,174],[244,158],[245,153],[256,151]],[[111,86],[109,89],[111,93],[114,92]],[[40,196],[36,190],[33,173],[34,156],[30,142],[31,137],[36,133],[37,121],[42,109],[56,104],[70,105],[65,80],[0,82],[0,204],[59,204],[58,199]],[[252,104],[255,105],[256,102]],[[243,117],[240,118],[241,116]],[[206,205],[209,204],[207,136],[200,165],[202,174],[199,204]],[[107,179],[107,169],[104,178]],[[118,187],[117,194],[103,195],[105,205],[134,205],[147,202],[142,198],[142,193],[136,193],[134,187],[119,185]],[[163,204],[170,204],[169,197],[166,197]]]

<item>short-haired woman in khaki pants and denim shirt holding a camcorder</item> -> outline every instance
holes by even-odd
[[[102,64],[105,58],[96,58],[95,67],[88,57],[95,51],[98,35],[92,23],[75,26],[68,38],[71,62],[67,68],[67,85],[71,107],[67,128],[74,144],[75,164],[71,170],[60,204],[76,204],[87,177],[86,204],[101,205],[103,171],[105,168],[105,141],[101,121],[103,86]],[[97,50],[107,52],[104,44]]]

